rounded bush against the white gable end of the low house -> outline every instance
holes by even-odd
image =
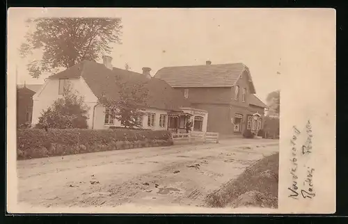
[[[84,104],[84,97],[72,93],[69,87],[65,89],[62,98],[57,99],[47,110],[42,111],[38,128],[81,128],[88,127],[88,110],[89,107]]]

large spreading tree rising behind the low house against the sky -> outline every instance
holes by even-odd
[[[38,78],[42,72],[52,72],[61,67],[71,67],[81,61],[96,61],[102,54],[110,54],[110,43],[120,43],[120,18],[71,18],[49,17],[28,19],[34,31],[26,33],[19,53],[22,57],[42,50],[40,60],[27,65],[31,77]]]

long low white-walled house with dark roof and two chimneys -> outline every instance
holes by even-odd
[[[139,118],[143,121],[143,128],[183,132],[190,119],[195,130],[206,131],[207,111],[190,108],[189,101],[179,91],[166,81],[151,77],[149,67],[144,67],[143,74],[139,74],[113,67],[111,61],[110,56],[104,56],[103,63],[83,61],[49,77],[33,96],[33,125],[38,123],[43,110],[63,97],[64,89],[70,84],[77,94],[84,96],[84,102],[90,108],[88,128],[122,127],[120,121],[111,117],[111,109],[101,99],[107,97],[117,102],[120,89],[116,81],[125,81],[127,86],[141,83],[149,90],[145,115]]]

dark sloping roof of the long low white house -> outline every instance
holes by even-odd
[[[147,79],[143,74],[122,70],[113,67],[109,70],[103,64],[92,61],[83,61],[74,65],[63,72],[52,75],[49,79],[79,78],[83,77],[90,90],[99,99],[104,95],[109,99],[118,100],[119,89],[116,79],[126,81],[129,85],[143,83],[149,90],[148,106],[155,109],[165,109],[169,111],[181,111],[181,106],[189,106],[189,102],[184,96],[161,79]]]

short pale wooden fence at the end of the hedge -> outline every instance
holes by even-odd
[[[215,142],[219,143],[219,133],[191,131],[190,133],[173,133],[174,143]]]

